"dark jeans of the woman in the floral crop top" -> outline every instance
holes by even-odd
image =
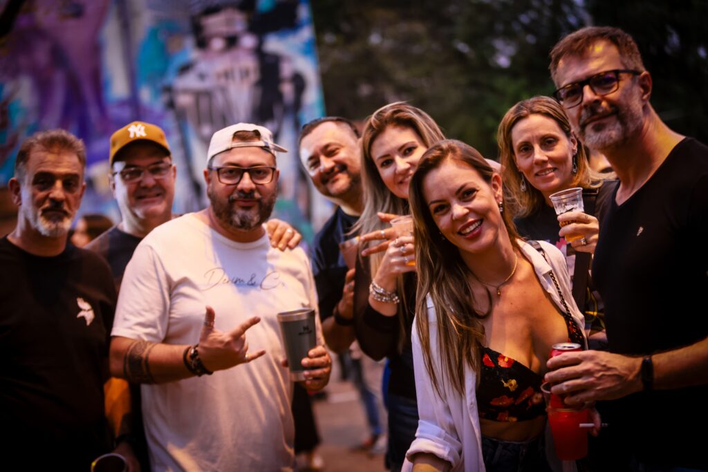
[[[543,434],[524,442],[482,437],[482,456],[487,472],[550,472]]]

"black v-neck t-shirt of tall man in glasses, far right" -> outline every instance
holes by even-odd
[[[612,198],[600,226],[593,275],[610,351],[646,355],[708,336],[704,241],[708,147],[686,138],[627,201]],[[621,426],[641,457],[708,468],[698,426],[708,424],[707,399],[708,386],[636,393],[619,402]]]

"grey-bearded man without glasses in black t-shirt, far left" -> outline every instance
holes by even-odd
[[[89,471],[114,450],[103,388],[115,287],[101,258],[67,246],[85,164],[80,139],[39,132],[8,183],[18,222],[0,240],[0,454],[32,470]],[[138,470],[129,444],[115,451]]]

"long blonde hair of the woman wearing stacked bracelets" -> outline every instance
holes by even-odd
[[[412,129],[421,139],[426,148],[429,148],[445,136],[440,131],[435,120],[420,108],[409,105],[404,102],[389,103],[382,108],[376,110],[370,117],[367,118],[362,132],[362,166],[361,180],[364,188],[365,206],[361,217],[353,227],[352,231],[358,231],[359,234],[367,234],[372,231],[384,229],[385,225],[379,220],[378,212],[391,214],[408,214],[408,201],[404,198],[394,195],[386,186],[379,174],[376,163],[371,155],[371,146],[388,127],[405,127]],[[381,253],[370,256],[370,270],[374,277],[379,263],[383,255]],[[398,281],[399,294],[402,294],[399,304],[399,323],[401,325],[401,338],[399,339],[399,348],[404,344],[406,333],[406,317],[408,306],[406,296],[403,289],[403,278],[399,277]]]

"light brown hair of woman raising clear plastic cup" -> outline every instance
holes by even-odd
[[[521,100],[519,103],[509,108],[506,115],[501,119],[496,132],[496,142],[499,146],[499,157],[502,166],[501,175],[504,180],[504,195],[509,202],[510,211],[514,213],[514,216],[518,217],[530,215],[546,205],[543,194],[528,181],[525,183],[525,192],[521,190],[521,182],[524,177],[521,171],[519,171],[518,166],[516,166],[516,159],[514,159],[511,130],[518,122],[530,115],[544,115],[551,118],[558,123],[561,130],[569,139],[573,137],[578,142],[578,152],[575,158],[578,164],[578,172],[573,175],[573,180],[569,188],[599,187],[603,179],[602,175],[590,168],[585,146],[583,146],[580,140],[575,137],[571,131],[568,116],[563,110],[563,107],[561,107],[556,100],[544,96],[535,96],[527,100]],[[605,178],[606,177],[605,175]]]

